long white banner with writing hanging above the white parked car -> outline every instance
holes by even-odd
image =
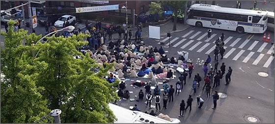
[[[91,7],[80,7],[76,8],[76,13],[83,12],[98,12],[98,11],[109,11],[109,10],[117,10],[119,9],[119,5],[101,5],[101,6],[91,6]]]

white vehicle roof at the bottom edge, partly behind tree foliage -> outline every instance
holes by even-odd
[[[132,111],[130,109],[126,109],[123,107],[120,107],[118,105],[109,103],[110,109],[113,111],[113,114],[117,118],[117,121],[114,123],[146,123],[145,121],[148,120],[150,122],[154,123],[172,123],[169,121],[166,121],[164,119],[160,119],[158,117],[151,116],[149,114],[145,114],[143,112],[139,111]]]

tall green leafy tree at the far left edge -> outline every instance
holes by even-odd
[[[1,50],[1,123],[36,123],[48,115],[47,100],[43,87],[37,87],[37,73],[33,73],[33,61],[29,58],[31,48],[24,46],[25,39],[32,39],[27,31],[14,32],[15,22],[9,21],[4,36],[5,49]],[[42,123],[46,123],[42,121]]]

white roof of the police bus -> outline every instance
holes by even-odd
[[[261,15],[267,14],[266,11],[249,10],[249,9],[238,9],[238,8],[228,8],[220,7],[218,5],[208,5],[208,4],[193,4],[190,9],[192,10],[202,10],[202,11],[212,11],[212,12],[222,12],[222,13],[233,13],[233,14],[243,14],[243,15]]]

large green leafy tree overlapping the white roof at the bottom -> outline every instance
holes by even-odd
[[[103,78],[113,65],[105,63],[106,67],[101,67],[97,74],[90,71],[99,65],[88,54],[84,56],[75,49],[87,43],[83,42],[87,36],[53,36],[47,38],[47,43],[36,45],[40,52],[35,60],[41,62],[36,67],[38,86],[45,88],[43,94],[49,99],[50,109],[63,111],[62,123],[113,123],[115,116],[108,103],[117,98],[113,87],[118,82],[110,84]]]

